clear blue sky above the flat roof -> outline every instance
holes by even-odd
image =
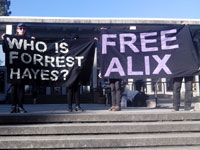
[[[11,16],[200,19],[200,0],[11,0],[10,10]]]

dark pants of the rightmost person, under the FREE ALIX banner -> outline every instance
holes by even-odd
[[[173,107],[179,109],[180,107],[180,90],[183,78],[185,78],[185,100],[184,109],[190,109],[192,103],[192,81],[193,76],[177,77],[173,80]]]

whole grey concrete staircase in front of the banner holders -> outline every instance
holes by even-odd
[[[200,149],[200,112],[154,110],[1,114],[0,149]]]

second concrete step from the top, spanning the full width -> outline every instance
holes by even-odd
[[[0,125],[0,135],[199,132],[200,121]]]

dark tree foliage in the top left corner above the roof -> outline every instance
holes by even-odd
[[[0,0],[0,16],[9,16],[11,11],[9,11],[10,0]]]

